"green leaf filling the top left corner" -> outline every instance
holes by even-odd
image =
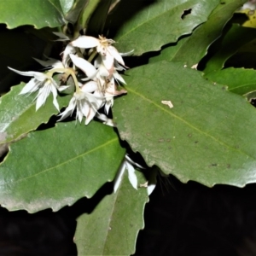
[[[65,24],[59,0],[0,1],[0,22],[9,29],[22,25],[42,28]]]

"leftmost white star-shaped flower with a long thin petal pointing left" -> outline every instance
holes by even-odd
[[[68,86],[59,86],[52,77],[47,75],[47,73],[45,74],[35,71],[21,72],[11,67],[9,67],[9,69],[23,76],[34,77],[24,86],[24,88],[20,91],[20,94],[31,94],[32,92],[39,90],[38,96],[36,97],[36,110],[44,105],[49,93],[52,92],[55,108],[60,111],[59,104],[57,102],[57,90],[65,90]]]

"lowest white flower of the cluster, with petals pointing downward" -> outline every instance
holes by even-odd
[[[93,81],[90,82],[95,83]],[[64,112],[60,114],[61,119],[59,119],[59,121],[66,119],[68,116],[72,115],[72,113],[76,109],[76,119],[79,119],[79,122],[81,123],[83,117],[85,117],[85,125],[88,125],[91,119],[93,119],[96,115],[98,109],[102,108],[102,106],[104,105],[104,98],[96,93],[88,93],[84,89],[85,87],[86,85],[82,87],[81,90],[76,91],[73,94],[73,98],[70,100],[67,108]]]

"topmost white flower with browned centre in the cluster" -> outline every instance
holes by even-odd
[[[119,54],[119,51],[115,49],[111,44],[115,43],[112,39],[104,38],[99,36],[99,39],[89,37],[89,36],[80,36],[70,44],[74,47],[79,48],[94,48],[102,56],[102,62],[104,66],[111,71],[113,68],[114,60],[118,61],[121,65],[125,66],[122,56]]]

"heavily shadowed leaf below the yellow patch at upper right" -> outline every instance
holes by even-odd
[[[214,55],[207,61],[204,73],[220,70],[224,67],[224,62],[231,55],[234,55],[244,44],[256,38],[256,29],[232,24],[228,32],[214,44]]]

